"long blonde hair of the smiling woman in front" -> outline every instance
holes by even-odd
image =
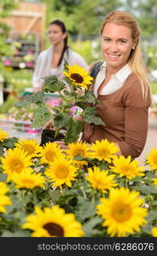
[[[151,103],[153,104],[153,97],[151,93],[151,86],[148,82],[146,75],[143,59],[142,59],[142,49],[141,49],[141,30],[138,26],[137,20],[135,20],[129,13],[125,11],[115,10],[106,16],[102,23],[101,35],[103,27],[108,22],[114,22],[118,25],[128,26],[131,29],[131,36],[136,42],[135,49],[131,49],[131,54],[128,59],[128,64],[130,65],[132,72],[136,73],[142,84],[142,95],[144,100],[147,99],[148,95],[151,97]]]

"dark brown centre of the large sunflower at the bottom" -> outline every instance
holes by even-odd
[[[64,230],[58,224],[50,222],[50,223],[44,224],[43,227],[45,230],[48,231],[50,236],[59,236],[59,237],[64,236]]]

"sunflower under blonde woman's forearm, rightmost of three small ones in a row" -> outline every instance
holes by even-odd
[[[107,139],[102,140],[101,142],[96,141],[96,143],[92,143],[90,149],[93,151],[90,153],[91,158],[105,160],[108,163],[111,163],[113,155],[119,151],[119,148],[116,147],[115,143],[109,143]]]

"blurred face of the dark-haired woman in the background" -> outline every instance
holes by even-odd
[[[48,36],[50,43],[56,45],[60,44],[67,37],[67,33],[61,31],[61,26],[52,24],[49,26]]]

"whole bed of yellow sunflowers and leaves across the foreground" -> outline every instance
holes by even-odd
[[[0,236],[157,236],[157,148],[142,166],[117,150],[0,130]]]

